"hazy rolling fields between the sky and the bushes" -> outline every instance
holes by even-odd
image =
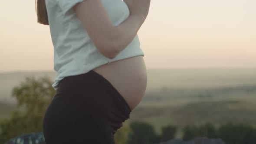
[[[0,73],[0,121],[9,118],[15,108],[14,86],[26,76],[54,79],[55,74]],[[167,124],[182,128],[232,121],[256,126],[256,69],[150,69],[145,96],[124,125],[131,121],[148,122],[158,133]]]

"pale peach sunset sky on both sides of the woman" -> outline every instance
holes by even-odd
[[[34,0],[0,1],[0,72],[53,71]],[[256,68],[256,0],[151,0],[138,36],[147,69]]]

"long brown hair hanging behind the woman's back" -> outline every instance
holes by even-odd
[[[49,25],[45,0],[36,0],[35,9],[37,14],[37,22],[44,25]]]

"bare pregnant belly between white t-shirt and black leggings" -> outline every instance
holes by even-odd
[[[143,56],[101,65],[93,71],[107,79],[125,98],[131,110],[141,101],[147,87],[147,71]]]

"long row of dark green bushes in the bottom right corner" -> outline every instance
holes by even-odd
[[[195,137],[221,138],[226,144],[256,144],[256,129],[244,124],[227,123],[216,129],[212,124],[187,125],[183,129],[183,140]]]

